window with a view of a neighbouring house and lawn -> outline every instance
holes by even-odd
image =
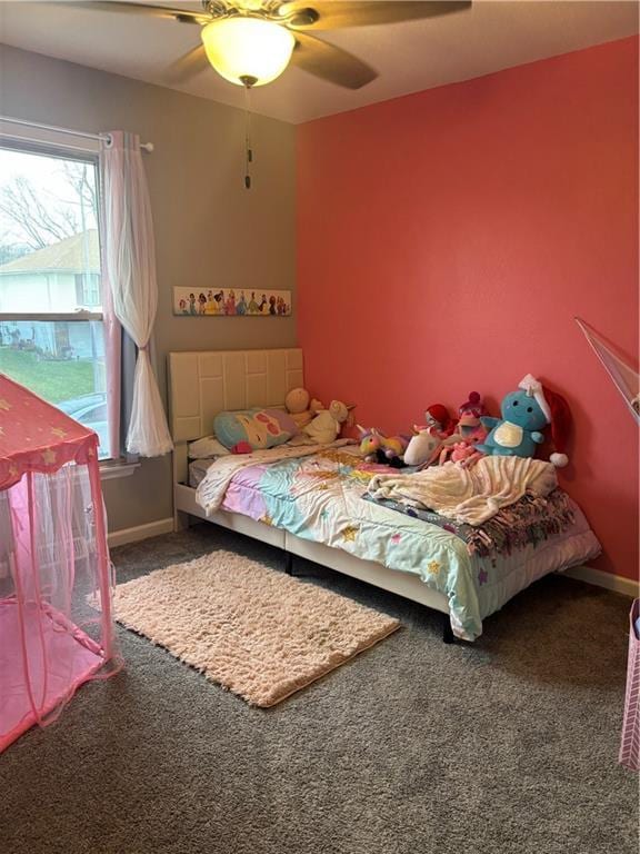
[[[96,430],[109,457],[98,163],[0,139],[0,371]]]

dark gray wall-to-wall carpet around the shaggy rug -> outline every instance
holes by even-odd
[[[121,580],[216,548],[199,526],[113,552]],[[127,671],[0,757],[2,854],[631,854],[617,765],[630,600],[550,577],[441,643],[438,615],[312,564],[403,627],[272,709],[126,630]]]

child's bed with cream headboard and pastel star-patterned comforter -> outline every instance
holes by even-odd
[[[207,519],[279,547],[288,570],[299,556],[412,599],[444,615],[446,640],[476,639],[484,617],[532,582],[599,554],[580,508],[560,490],[562,529],[500,554],[479,548],[476,535],[464,542],[442,519],[367,500],[373,473],[349,445],[274,448],[271,457],[259,451],[239,463],[199,460],[190,469],[188,445],[212,433],[219,411],[282,407],[287,393],[304,385],[302,351],[171,352],[168,376],[177,529],[191,517]],[[239,466],[227,481],[218,471],[224,465]],[[218,502],[207,500],[216,491]],[[306,516],[299,505],[307,506]]]

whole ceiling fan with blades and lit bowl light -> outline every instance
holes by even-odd
[[[212,66],[250,89],[279,77],[289,62],[347,89],[360,89],[378,73],[314,31],[396,23],[459,12],[470,0],[202,0],[202,11],[139,2],[73,2],[97,11],[166,18],[201,27],[202,43],[174,62],[170,76],[186,80]]]

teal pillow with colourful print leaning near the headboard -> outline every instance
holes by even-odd
[[[230,450],[236,449],[236,453],[274,448],[299,433],[291,416],[280,409],[218,413],[213,419],[213,429],[216,438]]]

